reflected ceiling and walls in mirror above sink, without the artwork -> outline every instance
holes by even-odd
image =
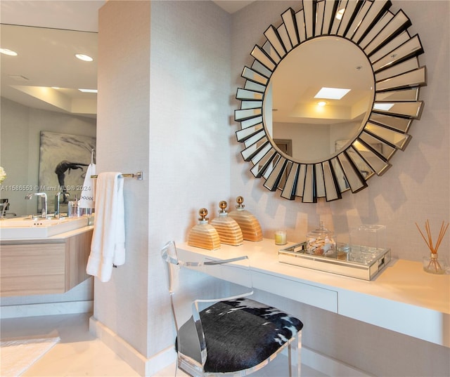
[[[41,131],[76,135],[76,140],[96,137],[97,95],[79,88],[97,88],[98,34],[7,24],[0,27],[1,48],[17,53],[0,54],[0,159],[7,173],[0,197],[10,203],[7,213],[23,216],[40,212],[40,201],[25,200],[25,195],[46,192],[52,213],[56,192],[61,190],[56,166],[51,168],[51,180],[39,176]],[[90,55],[94,60],[79,60],[76,53]],[[58,162],[66,159],[65,152],[58,155]],[[91,149],[82,157],[70,161],[82,169],[65,171],[65,185],[75,182],[81,171],[86,172],[81,164],[91,162]],[[79,198],[81,190],[77,188],[70,190],[68,200],[75,199],[75,195]],[[61,196],[61,212],[67,212],[68,200],[64,203]]]

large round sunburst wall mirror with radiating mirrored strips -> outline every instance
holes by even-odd
[[[236,132],[255,178],[314,203],[359,192],[390,168],[419,119],[423,47],[391,1],[299,1],[251,51]]]

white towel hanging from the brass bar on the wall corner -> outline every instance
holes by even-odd
[[[100,173],[96,185],[96,216],[86,272],[109,282],[113,265],[125,263],[124,178]]]

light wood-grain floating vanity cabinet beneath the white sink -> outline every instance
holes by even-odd
[[[84,282],[93,231],[1,242],[0,296],[64,293]]]

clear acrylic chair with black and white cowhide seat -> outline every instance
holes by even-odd
[[[191,376],[247,376],[287,348],[288,375],[300,377],[303,324],[248,298],[253,288],[247,256],[188,262],[179,259],[174,242],[161,254],[176,326],[176,370]]]

